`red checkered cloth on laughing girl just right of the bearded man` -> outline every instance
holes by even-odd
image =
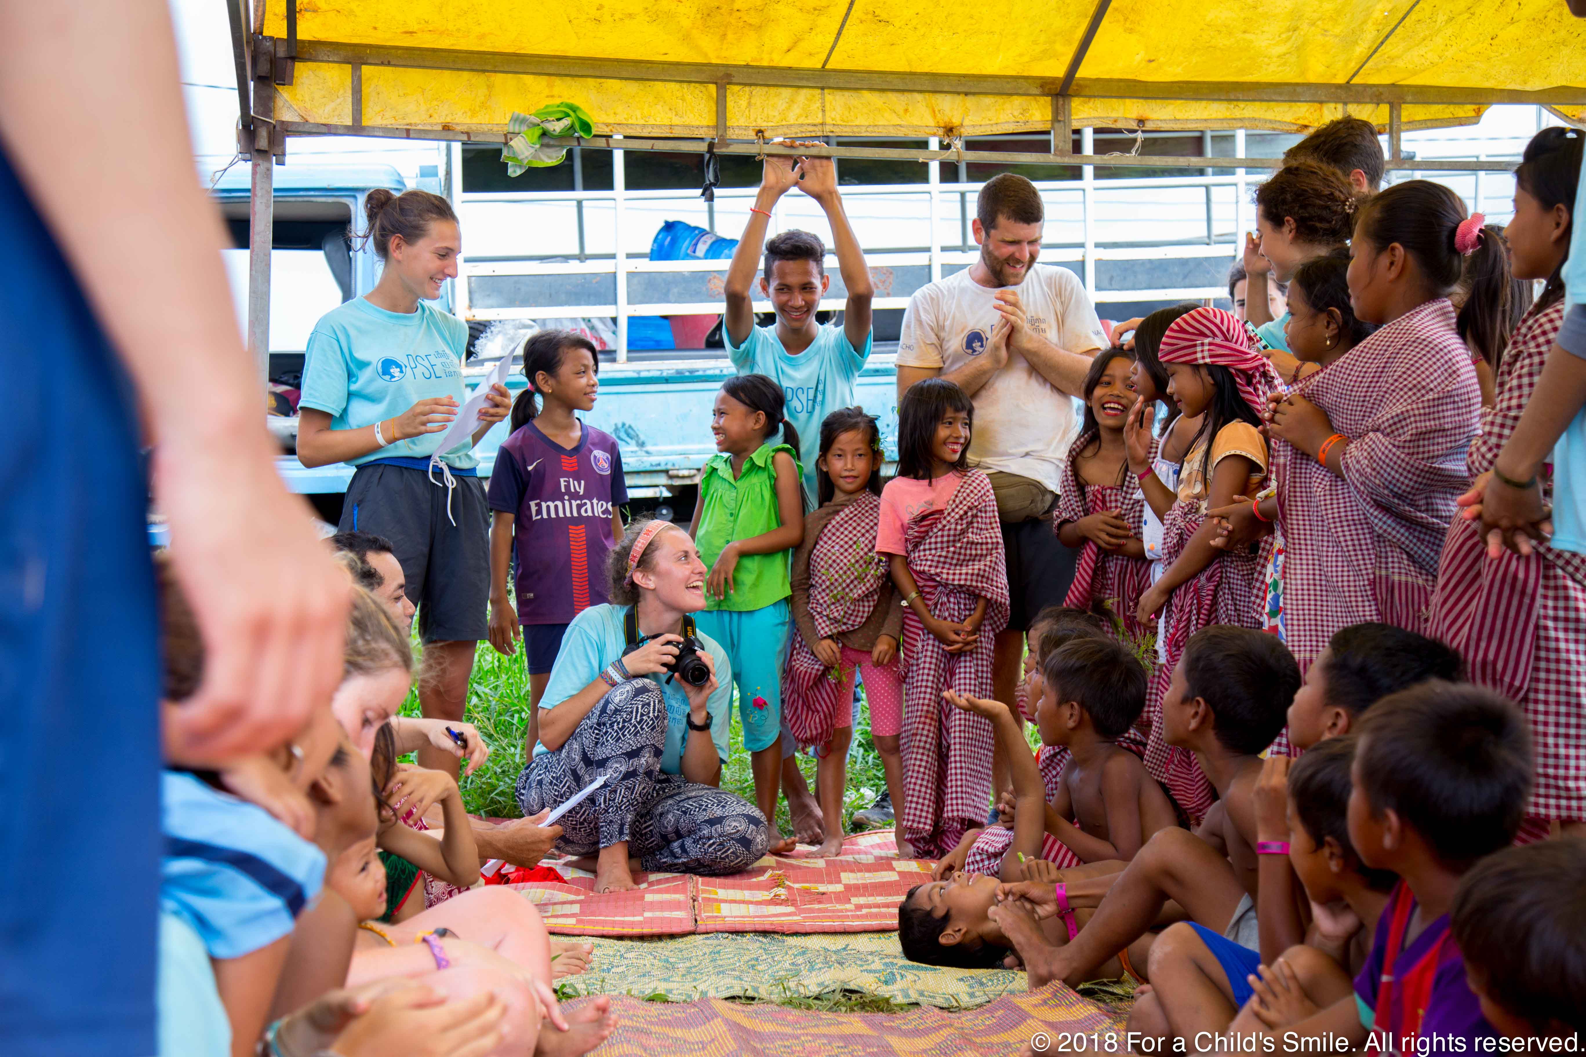
[[[1123,485],[1085,485],[1074,467],[1075,458],[1096,437],[1086,433],[1069,447],[1069,455],[1063,460],[1063,474],[1058,483],[1058,507],[1053,510],[1052,531],[1063,528],[1064,521],[1117,510],[1129,525],[1129,531],[1140,534],[1145,520],[1145,496],[1140,482],[1132,474]],[[1156,461],[1156,448],[1161,441],[1151,441],[1151,461]],[[1074,585],[1063,604],[1071,609],[1110,610],[1123,621],[1123,629],[1131,639],[1142,639],[1145,628],[1134,613],[1140,607],[1140,596],[1151,586],[1151,563],[1145,558],[1124,558],[1109,555],[1096,545],[1096,540],[1085,540],[1080,548],[1078,564],[1074,567]]]

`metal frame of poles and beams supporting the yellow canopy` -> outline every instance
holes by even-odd
[[[880,70],[833,70],[783,68],[720,63],[684,63],[650,60],[584,59],[569,55],[525,55],[512,52],[476,52],[438,48],[371,46],[338,41],[306,41],[297,36],[297,0],[285,0],[287,38],[271,38],[251,33],[252,13],[249,0],[227,0],[232,30],[232,49],[236,65],[238,87],[238,152],[246,154],[252,165],[252,195],[249,209],[249,304],[247,344],[254,352],[260,377],[268,374],[270,360],[270,250],[274,222],[274,158],[285,154],[287,136],[373,136],[393,139],[428,139],[504,144],[504,132],[473,132],[454,128],[371,127],[363,124],[363,67],[403,67],[414,70],[449,70],[466,73],[517,73],[555,74],[574,78],[604,78],[620,81],[665,81],[711,86],[715,92],[714,138],[628,138],[592,136],[569,139],[568,146],[579,149],[606,147],[614,151],[666,151],[752,155],[817,155],[834,158],[883,158],[914,162],[956,162],[993,165],[1075,165],[1115,168],[1228,168],[1270,170],[1281,158],[1247,157],[1159,157],[1132,154],[1091,154],[1090,128],[1082,130],[1082,154],[1072,152],[1074,100],[1205,100],[1228,103],[1334,103],[1334,105],[1383,105],[1389,108],[1388,165],[1391,171],[1461,173],[1461,171],[1510,171],[1515,162],[1443,160],[1427,158],[1405,162],[1400,149],[1404,106],[1446,105],[1535,105],[1559,114],[1559,106],[1586,105],[1586,87],[1551,87],[1538,90],[1515,90],[1489,86],[1419,86],[1419,84],[1354,84],[1351,74],[1345,84],[1310,82],[1163,82],[1082,78],[1078,70],[1096,32],[1107,16],[1112,0],[1096,0],[1085,33],[1069,57],[1063,76],[988,76],[953,73],[902,73]],[[1402,19],[1400,19],[1402,21]],[[1397,29],[1397,27],[1396,27]],[[841,30],[839,30],[841,35]],[[1391,35],[1391,30],[1389,30]],[[1386,38],[1385,38],[1386,40]],[[836,46],[836,41],[834,44]],[[1381,48],[1381,41],[1378,41]],[[1375,52],[1373,52],[1375,54]],[[829,54],[828,54],[829,60]],[[333,125],[316,122],[278,120],[274,114],[274,86],[292,84],[297,62],[339,63],[351,68],[352,124]],[[1364,63],[1362,63],[1364,68]],[[920,93],[967,93],[967,95],[1026,95],[1047,97],[1052,101],[1052,151],[1004,152],[966,151],[961,139],[950,149],[899,149],[872,146],[818,146],[785,147],[777,143],[733,141],[726,138],[726,89],[730,86],[833,89],[863,92],[920,92]],[[1559,114],[1562,117],[1562,114]],[[1569,122],[1576,124],[1576,122]],[[1037,132],[1037,130],[1032,130]],[[1243,154],[1243,135],[1237,136]],[[549,141],[555,143],[555,141]],[[933,147],[936,138],[931,138]],[[934,168],[933,168],[934,173]],[[1088,179],[1088,177],[1086,177]],[[933,214],[934,223],[934,214]],[[619,260],[620,266],[620,260]],[[1091,268],[1086,261],[1086,271]]]

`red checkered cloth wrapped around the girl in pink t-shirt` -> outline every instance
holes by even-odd
[[[971,471],[945,510],[928,510],[904,528],[909,572],[940,620],[967,620],[986,599],[980,642],[947,653],[910,610],[902,624],[904,832],[925,857],[940,857],[971,826],[983,826],[991,803],[991,724],[942,700],[956,689],[991,696],[991,642],[1007,626],[1007,567],[996,496],[985,474]]]

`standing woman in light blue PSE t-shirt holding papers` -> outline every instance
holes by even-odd
[[[298,460],[358,467],[339,529],[392,542],[408,597],[419,607],[425,651],[438,654],[427,666],[431,677],[419,683],[423,715],[462,719],[474,648],[488,631],[490,596],[490,513],[473,447],[506,418],[511,401],[496,385],[474,434],[436,452],[465,398],[468,325],[430,304],[457,276],[457,214],[423,190],[377,189],[363,209],[366,238],[385,266],[370,293],[314,325],[303,363]],[[431,456],[442,463],[435,472]],[[431,746],[419,750],[419,762],[457,765]]]

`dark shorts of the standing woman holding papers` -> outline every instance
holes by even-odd
[[[439,471],[435,480],[441,480]],[[419,469],[360,466],[341,507],[343,532],[374,532],[392,542],[408,601],[419,607],[423,642],[477,642],[490,631],[490,507],[485,483],[454,477],[447,488]],[[457,525],[452,525],[457,521]]]

